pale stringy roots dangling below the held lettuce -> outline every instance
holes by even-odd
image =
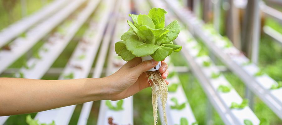
[[[165,80],[162,78],[159,70],[157,71],[148,71],[147,77],[151,79],[150,84],[152,87],[152,105],[153,105],[153,116],[154,116],[154,125],[157,124],[158,119],[158,98],[161,100],[161,106],[164,113],[164,124],[167,125],[167,119],[165,114],[165,105],[168,96],[168,89],[165,83]]]

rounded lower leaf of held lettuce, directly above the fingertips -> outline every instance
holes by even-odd
[[[151,55],[155,61],[163,61],[168,55],[172,53],[172,48],[159,46],[157,51]]]

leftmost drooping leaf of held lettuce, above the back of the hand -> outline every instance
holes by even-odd
[[[130,61],[133,58],[135,58],[135,56],[132,55],[132,53],[128,51],[127,48],[125,47],[124,41],[116,42],[115,51],[118,54],[118,56],[121,56],[125,61]]]

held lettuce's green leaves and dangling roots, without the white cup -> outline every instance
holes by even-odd
[[[175,45],[172,41],[178,37],[180,25],[175,20],[165,27],[165,14],[167,12],[162,8],[152,8],[148,15],[129,14],[133,23],[127,21],[130,29],[121,36],[122,41],[115,43],[116,53],[125,61],[135,57],[150,57],[155,61],[163,61],[173,51],[179,52],[182,46]],[[154,125],[156,125],[157,100],[160,97],[163,111],[165,111],[168,88],[158,68],[147,72],[147,77],[152,81],[152,105]],[[164,122],[167,124],[165,112]]]

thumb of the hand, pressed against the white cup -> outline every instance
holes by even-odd
[[[147,70],[155,67],[159,62],[155,60],[147,60],[143,61],[142,63],[139,63],[137,66],[133,67],[133,72],[136,75],[141,75],[141,73],[146,72]]]

